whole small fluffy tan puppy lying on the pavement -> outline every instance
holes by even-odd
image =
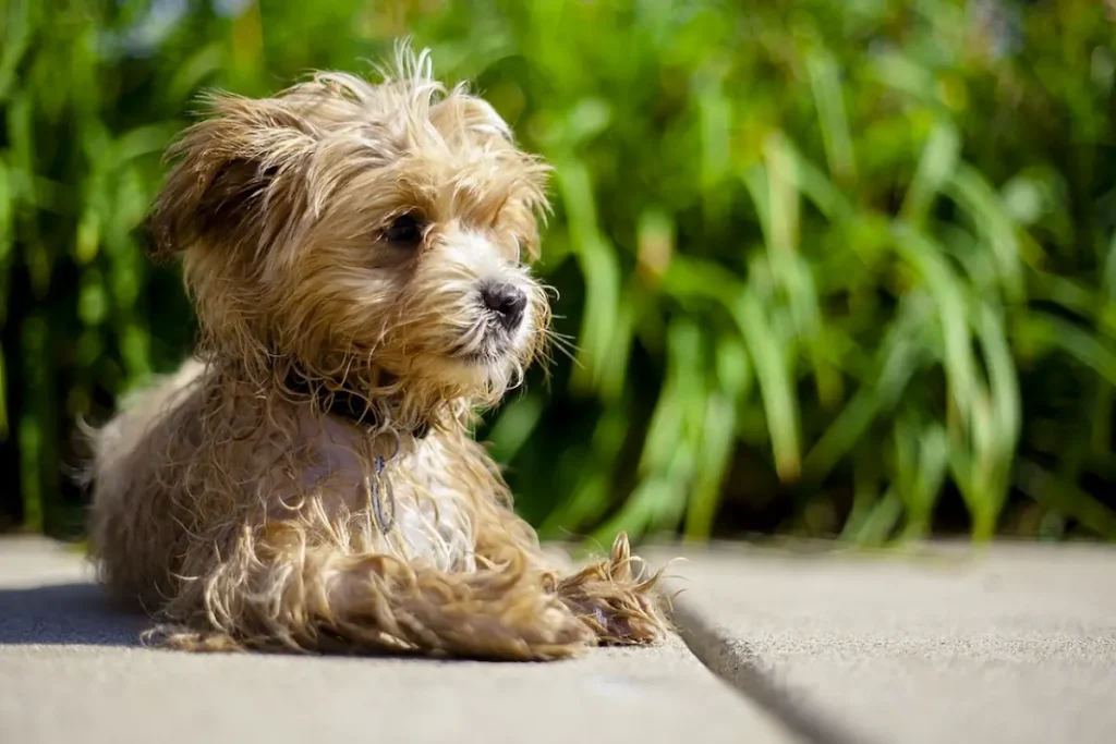
[[[93,434],[103,581],[193,650],[555,659],[667,629],[620,535],[540,549],[474,410],[543,347],[548,168],[405,46],[378,85],[319,74],[210,99],[152,213],[196,358]]]

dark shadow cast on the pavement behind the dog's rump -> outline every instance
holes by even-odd
[[[0,645],[138,646],[147,625],[92,583],[0,589]]]

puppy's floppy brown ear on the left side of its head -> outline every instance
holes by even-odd
[[[286,210],[289,220],[305,202],[312,127],[278,99],[217,94],[208,103],[209,116],[167,151],[177,163],[147,220],[155,259],[199,244],[259,251],[276,235],[269,212]]]

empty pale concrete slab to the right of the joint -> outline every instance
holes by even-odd
[[[1116,550],[931,550],[684,551],[675,618],[815,741],[1116,741]]]

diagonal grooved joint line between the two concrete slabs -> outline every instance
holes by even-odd
[[[747,641],[720,629],[682,596],[683,589],[667,581],[673,595],[668,613],[690,653],[734,692],[766,711],[804,744],[879,744],[860,732],[849,731],[816,706],[804,702],[764,669],[764,661]],[[689,589],[686,589],[689,591]]]

